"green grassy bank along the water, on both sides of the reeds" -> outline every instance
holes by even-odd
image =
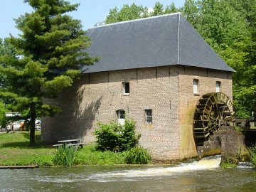
[[[41,132],[36,131],[36,146],[29,146],[28,132],[0,134],[0,166],[3,165],[39,165],[54,166],[53,156],[56,149],[43,144]],[[123,153],[96,151],[95,146],[88,145],[78,150],[76,164],[125,164]]]

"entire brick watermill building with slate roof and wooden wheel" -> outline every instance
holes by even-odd
[[[214,126],[208,115],[216,107],[222,116],[232,111],[234,70],[181,14],[97,26],[87,36],[86,51],[100,62],[83,67],[58,99],[46,100],[63,108],[42,119],[46,142],[79,137],[91,143],[97,122],[129,118],[154,159],[183,159],[196,156],[196,146],[208,139]]]

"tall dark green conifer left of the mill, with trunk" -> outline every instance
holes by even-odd
[[[64,0],[25,0],[33,11],[18,17],[19,38],[11,36],[10,43],[18,58],[0,58],[1,75],[6,75],[8,88],[0,87],[1,98],[11,98],[16,112],[30,119],[30,145],[35,144],[35,121],[38,114],[53,116],[60,112],[54,105],[43,104],[44,98],[55,98],[65,87],[73,85],[80,76],[81,65],[92,65],[85,49],[90,40],[79,20],[67,13],[79,4]]]

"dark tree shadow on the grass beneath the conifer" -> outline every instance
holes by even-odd
[[[18,148],[18,149],[39,149],[39,148],[52,148],[51,145],[48,145],[44,142],[41,142],[41,135],[36,135],[35,136],[35,141],[36,145],[35,146],[30,146],[29,145],[29,132],[26,133],[21,133],[21,135],[26,138],[28,141],[17,141],[17,142],[6,142],[2,143],[0,145],[0,148],[4,147],[11,147],[11,148]]]

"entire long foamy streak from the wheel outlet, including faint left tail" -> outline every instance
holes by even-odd
[[[92,174],[87,176],[86,174],[69,174],[68,176],[39,176],[31,178],[43,183],[76,183],[84,181],[96,181],[96,182],[110,182],[110,181],[136,181],[146,179],[152,176],[171,176],[175,174],[182,174],[188,171],[197,171],[205,169],[215,169],[220,166],[220,156],[210,156],[201,161],[193,161],[191,163],[182,163],[178,166],[162,166],[152,167],[146,169],[145,167],[138,168],[134,167],[131,170],[122,171],[108,171],[99,174]]]

